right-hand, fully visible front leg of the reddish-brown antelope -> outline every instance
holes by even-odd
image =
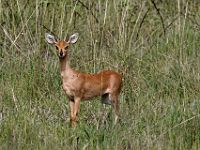
[[[80,107],[80,101],[81,101],[80,98],[74,98],[74,102],[73,102],[73,105],[72,105],[73,112],[71,111],[71,124],[72,124],[72,127],[75,127],[76,123],[77,123],[77,114],[78,114],[79,107]]]

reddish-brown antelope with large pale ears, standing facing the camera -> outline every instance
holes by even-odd
[[[111,70],[103,70],[97,74],[80,73],[69,65],[68,48],[76,43],[78,33],[70,36],[68,41],[57,40],[53,35],[46,33],[46,40],[53,44],[58,52],[60,74],[63,89],[70,104],[70,121],[73,127],[77,123],[77,113],[80,101],[101,96],[104,104],[111,104],[115,112],[115,123],[119,117],[119,94],[122,85],[122,75]]]

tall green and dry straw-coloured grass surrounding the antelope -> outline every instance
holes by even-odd
[[[0,0],[0,149],[198,149],[200,2]],[[123,73],[121,121],[99,98],[70,127],[45,33],[79,33],[75,70]]]

